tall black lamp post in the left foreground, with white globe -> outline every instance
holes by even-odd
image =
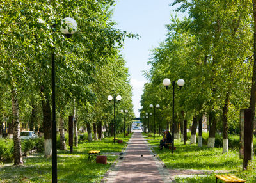
[[[61,28],[60,31],[63,35],[70,38],[76,30],[77,23],[76,20],[66,17],[61,20],[61,24],[65,24],[65,28]],[[55,26],[55,25],[54,25]],[[54,27],[53,26],[53,27]],[[71,32],[70,32],[71,30]],[[53,29],[54,36],[54,29]],[[51,61],[52,61],[52,183],[57,182],[57,125],[56,125],[56,102],[55,102],[55,47],[54,47],[54,38],[51,52]]]

